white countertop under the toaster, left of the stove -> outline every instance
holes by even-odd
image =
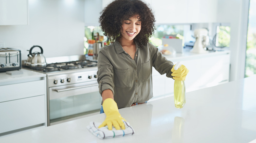
[[[20,69],[19,71],[22,71],[23,73],[17,75],[9,75],[6,72],[0,72],[0,83],[46,76],[46,74],[44,73],[30,71],[26,69]]]

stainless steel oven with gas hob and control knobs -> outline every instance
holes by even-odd
[[[70,59],[74,61],[67,61]],[[97,62],[84,60],[83,56],[51,60],[58,62],[48,59],[46,67],[23,67],[47,74],[48,126],[99,113],[102,98],[97,83]]]

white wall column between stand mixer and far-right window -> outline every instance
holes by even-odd
[[[230,81],[244,78],[249,0],[218,0],[217,21],[230,23]]]

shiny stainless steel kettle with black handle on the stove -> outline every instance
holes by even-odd
[[[41,49],[41,53],[39,52],[32,53],[32,49],[34,47],[39,47]],[[43,55],[43,48],[41,46],[35,45],[30,48],[26,65],[30,67],[44,67],[47,65],[45,57]]]

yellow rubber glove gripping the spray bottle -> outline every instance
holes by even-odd
[[[185,80],[189,70],[184,65],[181,65],[181,67],[178,70],[174,70],[175,65],[171,69],[171,71],[172,71],[171,75],[173,76],[173,79],[181,80],[181,81]]]

